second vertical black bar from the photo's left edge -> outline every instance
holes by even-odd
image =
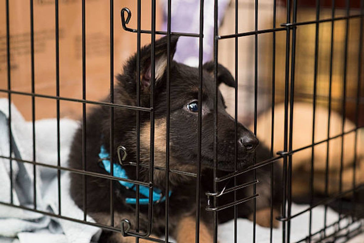
[[[31,58],[31,82],[32,93],[34,88],[34,11],[33,0],[30,0],[30,58]],[[32,96],[32,132],[33,132],[33,162],[35,162],[35,96]],[[36,166],[33,164],[33,204],[37,209],[37,190],[36,190]]]

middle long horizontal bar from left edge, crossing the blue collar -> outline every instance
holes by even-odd
[[[120,178],[120,177],[106,175],[106,174],[100,174],[100,173],[91,172],[91,171],[84,171],[84,170],[79,170],[79,169],[67,168],[67,167],[63,167],[63,166],[53,166],[51,164],[33,162],[33,161],[29,161],[29,160],[24,160],[24,159],[9,158],[7,156],[2,156],[2,155],[0,155],[0,158],[12,159],[12,160],[16,160],[18,162],[35,164],[37,166],[44,166],[44,167],[48,167],[48,168],[52,168],[52,169],[70,171],[70,172],[73,172],[73,173],[76,173],[76,174],[81,174],[81,175],[88,175],[88,176],[94,176],[94,177],[98,177],[98,178],[111,179],[111,180],[121,180],[123,182],[130,182],[130,183],[139,184],[139,185],[148,186],[148,187],[151,185],[151,183],[149,183],[149,182],[140,182],[140,181],[137,181],[137,180],[125,179],[125,178]]]

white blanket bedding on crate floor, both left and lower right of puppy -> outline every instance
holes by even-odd
[[[13,156],[23,160],[32,161],[32,123],[26,122],[16,107],[11,108],[11,130],[13,136]],[[0,155],[9,156],[8,134],[8,101],[0,99]],[[67,156],[70,151],[72,135],[78,122],[69,119],[60,120],[60,162],[61,166],[67,166]],[[57,164],[57,135],[56,119],[38,120],[36,128],[36,161],[46,164]],[[30,163],[13,160],[13,203],[16,205],[33,208],[33,165]],[[9,160],[0,158],[0,200],[10,202],[10,170]],[[83,219],[80,210],[69,194],[70,180],[67,172],[61,176],[61,212],[63,216]],[[58,214],[58,186],[57,170],[42,166],[36,166],[36,192],[37,210]],[[292,205],[292,212],[299,212],[308,206]],[[323,228],[324,207],[316,207],[312,214],[312,232]],[[338,215],[333,210],[328,210],[328,224],[335,222]],[[90,217],[88,221],[94,222]],[[291,242],[295,242],[308,235],[309,213],[302,214],[292,220]],[[349,223],[343,220],[341,226]],[[356,227],[354,224],[352,227]],[[238,242],[252,242],[253,223],[247,219],[238,219]],[[334,227],[327,230],[327,234],[333,232]],[[20,243],[89,243],[97,241],[100,229],[71,222],[64,219],[52,218],[42,214],[22,210],[0,204],[0,242]],[[219,242],[234,242],[233,221],[219,225]],[[256,242],[269,242],[270,229],[257,225]],[[273,230],[273,242],[282,242],[281,228]]]

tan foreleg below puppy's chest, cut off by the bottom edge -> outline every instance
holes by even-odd
[[[178,243],[194,243],[196,232],[196,219],[192,216],[182,218],[177,225],[176,239]],[[212,232],[205,223],[200,222],[200,243],[213,242]]]

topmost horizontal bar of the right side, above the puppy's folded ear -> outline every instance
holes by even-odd
[[[324,22],[330,22],[330,21],[337,21],[337,20],[345,20],[345,19],[352,19],[352,18],[358,18],[361,17],[361,14],[358,15],[351,15],[351,16],[344,16],[344,17],[336,17],[333,19],[321,19],[321,20],[312,20],[312,21],[305,21],[305,22],[298,22],[298,23],[284,23],[281,24],[281,28],[272,28],[272,29],[262,29],[258,31],[249,31],[249,32],[243,32],[243,33],[237,33],[237,34],[231,34],[231,35],[222,35],[218,36],[218,39],[229,39],[234,37],[242,37],[242,36],[250,36],[250,35],[257,35],[262,33],[272,33],[272,32],[278,32],[278,31],[285,31],[286,27],[293,27],[297,25],[307,25],[307,24],[316,24],[316,23],[324,23]]]

